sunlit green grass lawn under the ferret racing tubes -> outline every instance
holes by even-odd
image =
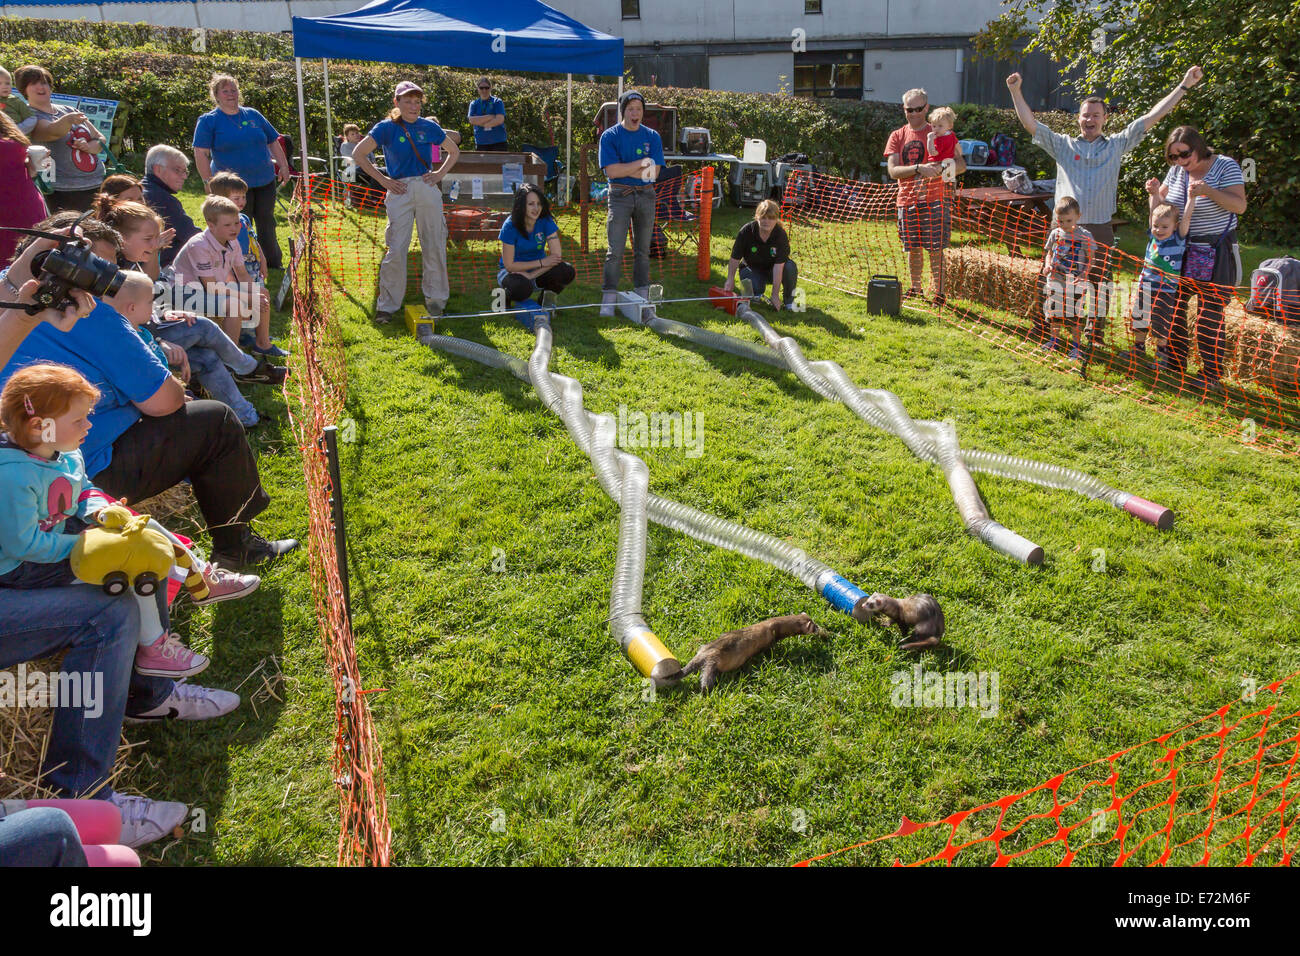
[[[723,211],[715,234],[746,215]],[[727,252],[715,241],[719,284]],[[809,358],[896,392],[914,418],[952,419],[966,446],[1082,468],[1176,523],[1158,532],[1072,493],[978,476],[993,516],[1046,550],[1040,568],[1015,564],[965,533],[937,468],[793,376],[562,312],[551,367],[582,382],[592,411],[703,416],[701,457],[636,450],[651,492],[794,542],[867,591],[931,592],[946,615],[945,646],[909,657],[793,578],[651,525],[645,618],[682,661],[776,614],[806,610],[831,636],[786,640],[710,697],[694,678],[650,695],[606,627],[619,511],[559,419],[512,376],[373,325],[373,282],[342,291],[352,605],[363,684],[386,688],[368,700],[394,862],[789,864],[892,832],[904,814],[937,819],[1026,790],[1238,698],[1243,675],[1300,667],[1294,459],[939,319],[868,315],[809,285],[809,311],[774,320]],[[668,297],[702,291],[666,284]],[[590,285],[564,297],[597,299]],[[448,311],[486,304],[462,294]],[[706,303],[660,311],[758,341]],[[438,330],[521,358],[533,341],[508,319]],[[303,536],[283,399],[254,401],[278,416],[255,437],[273,497],[259,528]],[[203,683],[233,688],[272,656],[283,679],[256,713],[246,700],[225,721],[135,732],[148,745],[134,786],[187,800],[208,825],[152,858],[333,862],[333,683],[306,553],[246,601],[182,611],[182,632],[213,656]],[[890,675],[915,662],[996,671],[998,714],[892,706]]]

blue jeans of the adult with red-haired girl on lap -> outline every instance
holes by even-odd
[[[166,626],[166,588],[157,591]],[[66,650],[64,674],[103,675],[94,708],[55,708],[43,782],[61,796],[108,799],[122,715],[159,706],[172,693],[166,678],[135,672],[140,611],[135,601],[73,584],[35,591],[0,589],[0,667]],[[98,711],[96,717],[90,714]],[[100,787],[99,792],[91,793]]]

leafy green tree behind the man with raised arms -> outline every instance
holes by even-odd
[[[1009,8],[979,36],[980,55],[1006,57],[1024,36],[1076,66],[1082,95],[1101,92],[1122,111],[1143,112],[1200,64],[1205,81],[1124,164],[1121,206],[1145,208],[1143,181],[1164,174],[1162,144],[1174,126],[1193,125],[1216,150],[1243,163],[1251,203],[1242,234],[1254,242],[1300,243],[1300,3],[1296,0],[1005,0]],[[1138,114],[1131,112],[1131,114]],[[1247,163],[1249,160],[1249,163]]]

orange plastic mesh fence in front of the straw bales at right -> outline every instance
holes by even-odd
[[[958,189],[937,178],[900,190],[802,170],[783,199],[801,281],[870,300],[875,276],[896,277],[909,308],[1243,444],[1300,454],[1295,291],[1257,289],[1256,306],[1249,287],[1239,294],[1153,271],[1141,281],[1141,259],[1100,243],[1084,259],[1078,234],[1046,258],[1052,213],[1050,194]],[[945,229],[946,248],[928,251]],[[904,235],[915,251],[905,251]],[[1188,252],[1184,272],[1206,264],[1197,251],[1205,250]],[[942,298],[932,268],[941,272]],[[922,294],[910,295],[913,286]]]

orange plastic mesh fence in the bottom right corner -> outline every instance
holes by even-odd
[[[1242,700],[1153,740],[944,819],[904,817],[892,834],[796,865],[1290,866],[1300,845],[1297,678],[1243,680]]]

